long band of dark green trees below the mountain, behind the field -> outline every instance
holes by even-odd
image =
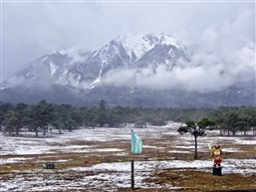
[[[39,131],[44,134],[49,129],[72,131],[84,127],[122,127],[133,123],[136,127],[146,125],[164,125],[167,121],[186,122],[209,118],[215,122],[220,133],[236,134],[248,131],[255,135],[255,106],[222,106],[219,108],[141,108],[141,107],[109,107],[105,100],[96,106],[74,106],[71,104],[55,104],[41,100],[37,104],[0,102],[1,130],[10,135],[19,135],[22,130]]]

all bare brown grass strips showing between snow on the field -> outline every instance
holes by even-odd
[[[255,139],[255,137],[246,137],[245,139]],[[224,146],[229,147],[234,143],[232,140],[222,142]],[[0,170],[1,179],[13,179],[19,174],[26,174],[24,170],[42,169],[44,162],[58,162],[58,160],[67,160],[64,162],[58,162],[56,175],[60,179],[74,180],[85,175],[79,173],[74,174],[72,171],[67,171],[65,177],[63,176],[65,169],[70,167],[83,167],[92,166],[93,164],[101,162],[117,162],[117,159],[123,161],[129,161],[130,143],[128,141],[117,142],[92,142],[92,141],[72,141],[65,145],[91,145],[95,148],[120,148],[124,149],[128,155],[120,156],[117,152],[94,152],[94,153],[49,153],[40,155],[2,155],[1,158],[14,158],[14,157],[31,157],[24,163],[12,163],[11,169],[7,169],[7,165],[2,165]],[[59,143],[58,143],[59,145]],[[135,156],[136,160],[172,160],[173,158],[181,160],[193,159],[193,153],[167,153],[168,150],[177,150],[172,147],[169,138],[153,139],[148,138],[145,140],[144,145],[153,145],[156,147],[162,147],[162,149],[146,148],[141,155]],[[225,158],[254,158],[256,156],[255,146],[236,144],[236,148],[243,152],[226,152],[223,154],[223,161]],[[193,151],[193,149],[191,149]],[[201,160],[211,159],[209,151],[198,152],[198,157]],[[85,161],[88,161],[85,163]],[[10,171],[19,170],[20,172],[10,174]],[[59,171],[60,170],[60,171]],[[58,172],[59,171],[59,172]],[[47,173],[44,173],[47,174]],[[85,173],[84,173],[85,174]],[[87,172],[86,174],[94,175],[94,172]],[[47,177],[47,175],[46,175]],[[27,175],[25,178],[29,178]],[[184,169],[160,169],[151,173],[151,177],[145,179],[144,182],[152,182],[160,185],[171,185],[177,187],[177,189],[167,190],[164,187],[162,189],[139,189],[137,192],[157,192],[157,191],[177,191],[177,192],[200,192],[200,191],[226,191],[226,190],[251,190],[256,191],[256,175],[242,175],[242,174],[225,174],[222,176],[212,175],[211,167],[207,171],[200,171],[198,169],[184,168]],[[80,190],[81,191],[81,190]],[[91,191],[91,190],[83,190]],[[104,189],[103,189],[104,191]],[[130,189],[120,189],[119,191],[131,191]]]

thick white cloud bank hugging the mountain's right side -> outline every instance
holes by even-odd
[[[218,92],[255,81],[255,42],[250,21],[255,21],[254,12],[244,11],[233,22],[209,26],[196,44],[193,40],[186,45],[191,61],[179,61],[171,71],[165,64],[157,68],[113,70],[102,81],[116,87],[199,93]]]

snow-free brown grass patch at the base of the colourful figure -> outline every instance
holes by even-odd
[[[171,184],[180,187],[179,191],[214,191],[230,189],[256,189],[256,175],[242,176],[227,174],[223,176],[212,175],[209,172],[198,170],[160,170],[154,174],[153,181],[160,184]]]

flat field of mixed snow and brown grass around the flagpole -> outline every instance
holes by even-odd
[[[133,128],[144,143],[142,154],[134,157],[135,187],[178,189],[171,184],[145,181],[161,169],[211,172],[213,160],[208,156],[208,143],[223,147],[223,175],[256,175],[255,137],[227,137],[219,136],[217,131],[209,132],[208,136],[198,138],[198,152],[206,157],[193,160],[193,137],[179,135],[176,132],[179,125]],[[129,127],[80,128],[64,134],[53,132],[40,136],[1,136],[1,192],[120,191],[130,187]],[[247,156],[229,157],[241,152]],[[45,162],[57,163],[56,169],[43,169],[41,165]]]

